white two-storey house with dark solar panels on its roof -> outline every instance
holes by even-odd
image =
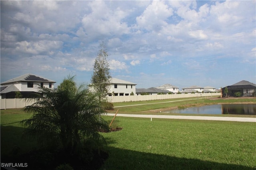
[[[38,92],[38,87],[54,88],[54,83],[41,76],[24,74],[1,83],[1,99],[15,98],[16,92],[20,92],[22,98],[28,98],[30,94]]]

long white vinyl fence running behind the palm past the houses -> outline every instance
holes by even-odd
[[[195,93],[195,94],[158,94],[158,95],[134,95],[134,96],[108,96],[108,102],[134,102],[145,100],[162,100],[176,98],[192,98],[192,97],[211,97],[220,96],[220,93]],[[1,99],[0,109],[23,108],[34,104],[33,100],[25,99]]]

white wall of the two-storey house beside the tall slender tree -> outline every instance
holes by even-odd
[[[126,84],[117,84],[117,88],[115,88],[114,84],[112,84],[109,93],[114,92],[114,94],[116,94],[116,96],[126,96],[126,94],[128,94],[127,96],[130,96],[130,94],[133,92],[135,94],[136,91],[136,87],[135,85],[131,84],[127,84],[127,88],[126,88]]]

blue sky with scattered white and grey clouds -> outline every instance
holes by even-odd
[[[110,73],[136,88],[256,83],[256,1],[0,1],[1,82],[31,73],[90,83],[104,42]]]

